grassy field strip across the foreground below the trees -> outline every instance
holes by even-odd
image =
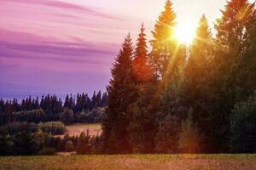
[[[256,155],[6,156],[0,169],[253,170]]]

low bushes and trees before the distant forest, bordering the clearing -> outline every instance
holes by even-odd
[[[14,122],[0,127],[0,156],[55,155],[55,152],[98,153],[99,136],[55,136],[66,132],[61,122]]]

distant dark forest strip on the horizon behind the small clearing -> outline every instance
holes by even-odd
[[[94,92],[91,98],[84,93],[70,94],[64,102],[49,94],[41,99],[28,97],[21,103],[17,99],[0,99],[0,125],[12,122],[102,122],[103,108],[107,105],[108,94],[101,91]]]

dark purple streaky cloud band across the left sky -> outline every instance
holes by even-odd
[[[90,43],[56,42],[21,44],[0,42],[0,58],[47,59],[88,64],[107,64],[112,61],[116,50],[93,46]]]

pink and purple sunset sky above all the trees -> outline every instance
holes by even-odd
[[[225,0],[172,0],[177,22],[210,26]],[[0,98],[106,91],[128,32],[148,39],[165,0],[0,0]]]

